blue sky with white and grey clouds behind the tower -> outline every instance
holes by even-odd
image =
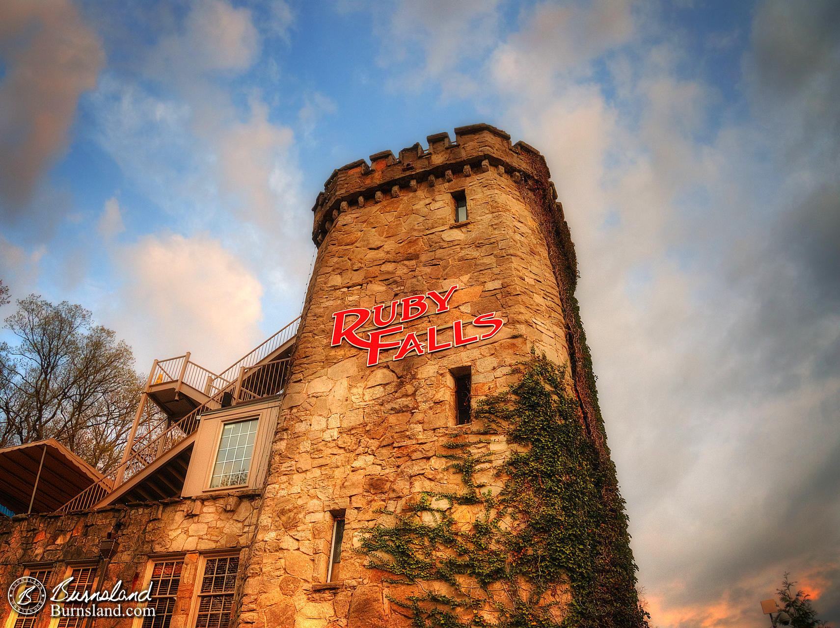
[[[300,312],[334,168],[505,129],[570,222],[651,625],[766,626],[785,572],[838,625],[837,102],[831,0],[3,0],[0,279],[218,372]]]

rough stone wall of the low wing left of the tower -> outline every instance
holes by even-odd
[[[223,495],[213,500],[166,500],[71,515],[15,515],[0,523],[0,583],[8,586],[24,575],[30,563],[49,563],[55,585],[68,564],[97,564],[97,590],[144,588],[150,555],[182,552],[183,571],[171,628],[185,628],[197,580],[199,552],[219,549],[247,552],[254,537],[260,496],[254,492]],[[115,552],[102,558],[102,541],[112,533]],[[240,559],[241,560],[241,559]],[[102,604],[108,607],[109,604]],[[5,595],[0,618],[11,613]],[[37,625],[47,625],[49,606]],[[97,619],[97,628],[130,626],[133,619]]]

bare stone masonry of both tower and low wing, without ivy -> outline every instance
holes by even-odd
[[[459,489],[438,455],[452,434],[474,429],[458,425],[459,374],[470,374],[475,406],[512,383],[512,365],[528,359],[532,348],[569,365],[567,385],[580,401],[580,421],[608,456],[596,429],[580,330],[570,316],[576,265],[570,241],[564,246],[555,238],[568,233],[556,196],[538,151],[512,145],[507,133],[486,124],[456,128],[454,142],[438,133],[428,137],[428,149],[414,144],[398,158],[386,151],[371,155],[370,164],[335,170],[312,208],[318,257],[261,494],[24,517],[0,526],[2,568],[13,575],[26,562],[66,560],[68,552],[87,557],[97,526],[108,523],[102,531],[111,530],[118,519],[121,550],[106,584],[108,578],[130,582],[150,552],[190,557],[171,620],[176,628],[193,616],[186,608],[196,578],[190,565],[198,553],[219,547],[241,549],[231,625],[410,625],[407,610],[391,600],[413,589],[390,583],[354,550],[365,528],[388,520],[382,509],[399,512],[429,492]],[[459,201],[467,219],[456,222]],[[388,328],[402,299],[430,291],[449,294],[445,308],[428,301],[422,316],[403,316],[408,320],[394,321],[399,332],[380,337],[402,343],[415,335],[418,342],[400,359],[396,347],[382,348],[369,366],[364,347],[346,338],[331,343],[336,312],[379,311],[378,319],[354,329],[370,339]],[[491,313],[503,324],[481,338],[491,327],[472,323]],[[339,329],[354,320],[345,317]],[[457,322],[469,343],[455,342]],[[444,348],[429,350],[430,327]],[[496,466],[508,453],[500,435],[487,437],[484,447]],[[476,514],[458,508],[459,521]],[[333,565],[329,582],[341,518],[340,571]]]

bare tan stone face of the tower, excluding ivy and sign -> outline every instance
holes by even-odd
[[[475,402],[505,388],[510,367],[532,347],[559,364],[569,361],[557,280],[523,188],[535,176],[550,187],[547,170],[529,166],[522,153],[536,151],[511,147],[498,129],[459,131],[457,145],[430,136],[428,153],[417,145],[399,161],[389,151],[372,155],[371,166],[337,170],[313,208],[318,259],[239,625],[407,625],[388,597],[410,591],[383,584],[384,574],[365,568],[366,558],[353,549],[363,528],[386,521],[379,509],[399,511],[423,491],[459,489],[435,455],[444,453],[450,434],[471,429],[455,425],[450,369],[471,367]],[[465,191],[468,222],[454,224],[454,191]],[[409,322],[405,332],[422,338],[429,325],[494,311],[505,321],[501,332],[400,361],[386,352],[375,367],[365,365],[360,348],[330,346],[335,311],[445,293],[455,284],[449,311]],[[494,463],[507,452],[501,437],[486,447]],[[324,586],[333,515],[342,510],[341,581]]]

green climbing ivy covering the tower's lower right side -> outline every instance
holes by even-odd
[[[517,382],[450,435],[461,489],[426,492],[368,528],[368,567],[405,585],[413,625],[645,626],[615,470],[580,421],[566,371],[532,352]],[[507,452],[494,451],[500,437]]]

